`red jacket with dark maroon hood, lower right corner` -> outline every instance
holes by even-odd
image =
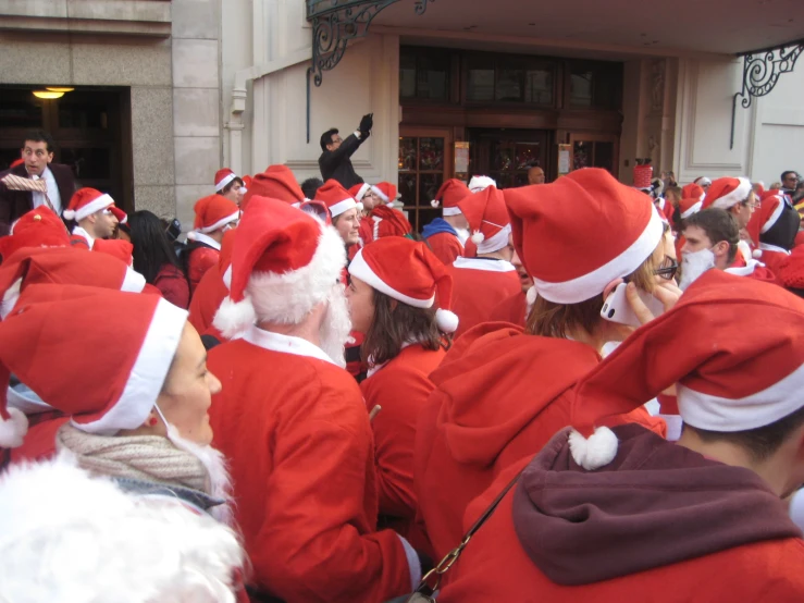
[[[438,603],[804,601],[804,542],[758,476],[638,426],[615,432],[608,470],[573,466],[561,432],[500,475],[467,510],[467,527],[527,466]]]

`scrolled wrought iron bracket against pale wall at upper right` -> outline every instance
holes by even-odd
[[[779,76],[793,71],[802,52],[804,52],[804,40],[743,56],[743,87],[731,100],[730,149],[734,148],[738,97],[742,97],[740,104],[743,109],[747,109],[753,99],[769,95],[776,87]]]

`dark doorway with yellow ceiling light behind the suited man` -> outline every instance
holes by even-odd
[[[25,133],[42,128],[55,140],[53,161],[70,165],[79,186],[109,193],[133,211],[131,89],[77,87],[52,100],[34,96],[44,89],[0,87],[0,171],[20,157]]]

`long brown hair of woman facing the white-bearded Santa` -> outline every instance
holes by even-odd
[[[424,349],[449,349],[453,337],[438,330],[435,307],[415,308],[376,290],[373,294],[374,318],[360,352],[364,362],[387,362],[399,355],[406,342],[418,342]]]

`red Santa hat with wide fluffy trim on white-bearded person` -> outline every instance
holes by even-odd
[[[235,233],[230,296],[212,324],[233,337],[256,320],[300,322],[339,283],[346,249],[332,226],[252,197]]]

